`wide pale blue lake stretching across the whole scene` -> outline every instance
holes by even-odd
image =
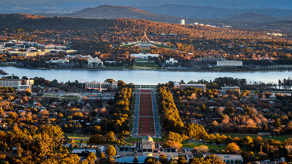
[[[198,81],[205,79],[207,81],[214,80],[218,77],[245,78],[246,81],[263,81],[265,83],[278,83],[279,79],[288,79],[292,76],[292,71],[270,71],[270,72],[172,72],[172,71],[100,71],[100,70],[65,70],[65,69],[30,69],[17,67],[3,67],[6,73],[12,76],[27,76],[28,78],[42,77],[46,80],[57,79],[58,82],[75,81],[97,81],[103,82],[107,78],[115,81],[122,80],[125,83],[133,83],[135,85],[157,85],[158,83],[166,83],[168,81],[180,81],[183,79],[185,83],[188,81]],[[4,75],[3,75],[4,76]]]

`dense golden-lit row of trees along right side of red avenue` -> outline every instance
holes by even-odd
[[[167,131],[177,132],[183,127],[183,122],[178,115],[178,109],[175,107],[170,90],[166,87],[157,88],[159,95],[159,112],[163,126]]]

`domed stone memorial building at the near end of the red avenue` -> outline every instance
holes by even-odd
[[[155,156],[165,155],[178,159],[176,148],[161,148],[150,136],[145,136],[142,141],[136,142],[135,146],[118,147],[117,156]]]

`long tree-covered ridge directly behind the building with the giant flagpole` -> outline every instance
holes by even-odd
[[[34,18],[34,19],[32,19]],[[0,14],[0,30],[25,29],[25,30],[88,30],[95,32],[142,32],[147,29],[149,33],[194,33],[197,29],[210,27],[187,27],[179,24],[151,22],[138,19],[85,19],[85,18],[41,18],[35,15]],[[195,29],[196,28],[196,29]]]

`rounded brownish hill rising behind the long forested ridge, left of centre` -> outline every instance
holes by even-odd
[[[74,18],[94,18],[94,19],[116,19],[116,18],[132,18],[144,19],[156,22],[180,22],[180,17],[168,15],[157,15],[148,11],[139,10],[128,6],[101,5],[95,8],[85,8],[75,13],[59,14],[59,13],[39,13],[46,17],[62,16]],[[185,18],[184,18],[185,19]]]

